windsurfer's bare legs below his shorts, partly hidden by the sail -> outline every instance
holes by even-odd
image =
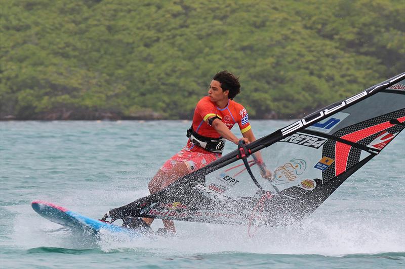
[[[175,182],[178,178],[181,178],[189,173],[188,168],[186,164],[181,163],[176,166],[174,166],[171,170],[168,172],[163,172],[162,170],[159,169],[157,171],[156,175],[152,178],[152,180],[149,182],[149,191],[150,193],[155,193],[173,182]],[[142,218],[142,220],[147,224],[151,225],[154,219],[151,218]],[[168,221],[168,220],[163,220],[163,224],[165,225],[165,228],[168,231],[171,232],[176,232],[174,223],[173,221]]]

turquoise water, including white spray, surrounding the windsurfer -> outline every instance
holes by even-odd
[[[257,137],[287,121],[252,121]],[[299,226],[178,222],[175,238],[100,240],[36,214],[32,200],[99,218],[147,195],[147,183],[185,143],[187,121],[0,122],[0,267],[403,268],[405,133]],[[226,151],[234,149],[229,143]],[[162,227],[161,221],[153,229]]]

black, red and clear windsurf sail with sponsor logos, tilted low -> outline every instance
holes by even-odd
[[[404,128],[402,73],[246,145],[245,162],[239,147],[110,214],[234,225],[300,221]],[[259,150],[270,180],[255,165]]]

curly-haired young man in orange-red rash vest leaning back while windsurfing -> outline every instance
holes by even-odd
[[[233,101],[239,92],[239,80],[232,73],[224,70],[213,77],[208,96],[201,98],[195,107],[191,128],[187,130],[189,137],[187,145],[157,171],[148,185],[151,194],[221,157],[226,140],[236,145],[239,140],[244,140],[245,143],[256,140],[249,123],[248,112],[244,106]],[[236,124],[243,136],[240,139],[230,131]],[[261,154],[257,152],[255,155],[263,168],[262,176],[270,178],[271,172],[265,168]],[[113,210],[106,213],[101,220],[107,221],[108,218],[113,220]],[[128,218],[124,219],[124,226],[150,230],[153,220]],[[173,221],[163,220],[163,223],[164,232],[176,232]]]

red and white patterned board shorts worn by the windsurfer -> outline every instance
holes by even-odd
[[[219,153],[193,152],[190,151],[188,146],[185,146],[178,153],[168,159],[166,163],[160,168],[160,170],[162,170],[163,172],[168,172],[176,165],[185,163],[188,168],[188,172],[191,173],[214,162],[214,160],[218,159],[219,157],[221,157],[221,154]]]

